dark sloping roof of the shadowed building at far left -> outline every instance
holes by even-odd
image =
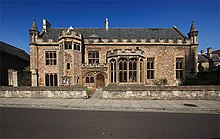
[[[16,48],[16,47],[9,45],[7,43],[4,43],[2,41],[0,41],[0,51],[8,53],[10,55],[14,55],[14,56],[21,58],[23,60],[30,61],[30,55],[27,54],[24,50]]]

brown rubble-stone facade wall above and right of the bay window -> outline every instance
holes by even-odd
[[[171,44],[86,44],[85,50],[85,59],[86,63],[88,63],[88,51],[97,50],[99,51],[99,62],[100,64],[106,63],[106,53],[107,51],[113,51],[115,49],[131,49],[136,50],[137,47],[144,51],[144,84],[145,85],[154,85],[155,80],[159,79],[167,79],[167,84],[170,86],[179,85],[181,81],[176,79],[176,58],[183,58],[184,64],[184,77],[190,74],[192,69],[194,69],[194,56],[190,55],[194,53],[189,45],[171,45]],[[147,58],[155,58],[154,65],[154,79],[147,79]],[[192,64],[193,63],[193,64]],[[109,71],[107,71],[109,73]],[[108,82],[109,83],[109,82]],[[107,83],[107,84],[108,84]]]

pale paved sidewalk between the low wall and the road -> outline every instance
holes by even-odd
[[[0,98],[0,107],[220,114],[220,101]]]

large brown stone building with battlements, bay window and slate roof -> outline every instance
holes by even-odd
[[[181,84],[197,72],[198,31],[172,28],[52,28],[30,34],[32,86]]]

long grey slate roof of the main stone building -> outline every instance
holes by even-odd
[[[43,39],[58,40],[59,34],[66,28],[50,28],[43,34]],[[82,33],[84,38],[89,38],[91,34],[100,36],[102,39],[185,39],[184,36],[176,28],[74,28],[77,33]]]

